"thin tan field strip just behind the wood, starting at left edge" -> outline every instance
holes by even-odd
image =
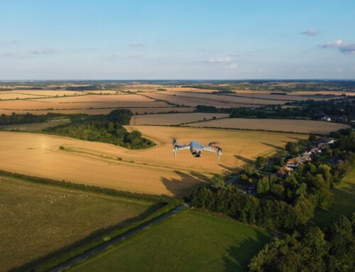
[[[156,102],[160,103],[160,102]],[[0,103],[1,104],[1,103]],[[143,104],[142,106],[148,106],[151,104]],[[57,114],[109,114],[114,109],[129,109],[133,112],[133,114],[156,114],[156,113],[164,113],[164,112],[192,112],[195,111],[194,107],[110,107],[112,105],[105,104],[103,109],[96,108],[84,108],[84,109],[40,109],[40,110],[26,110],[26,109],[0,109],[0,114],[12,114],[15,112],[16,114],[26,114],[27,112],[30,114],[47,114],[48,112],[53,112]]]

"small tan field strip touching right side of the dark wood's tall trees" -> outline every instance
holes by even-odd
[[[203,121],[204,119],[213,119],[213,117],[225,118],[229,114],[207,114],[207,113],[187,113],[187,114],[147,114],[132,116],[132,125],[178,125],[194,121]]]

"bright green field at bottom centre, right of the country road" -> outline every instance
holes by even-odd
[[[271,235],[185,210],[72,271],[246,271]]]

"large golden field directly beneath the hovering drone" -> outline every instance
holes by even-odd
[[[206,177],[268,156],[288,141],[305,135],[263,131],[232,131],[169,126],[126,126],[141,131],[157,144],[153,148],[128,150],[108,143],[74,138],[0,131],[0,170],[84,183],[151,195],[189,195]],[[207,144],[219,141],[223,156],[205,153],[200,159],[188,151],[173,158],[172,139]],[[64,146],[64,150],[60,150]],[[119,161],[119,158],[121,161]]]

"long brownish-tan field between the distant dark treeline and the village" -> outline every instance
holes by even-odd
[[[196,127],[215,127],[224,129],[260,129],[265,131],[285,131],[305,134],[329,134],[331,131],[346,129],[349,126],[327,121],[294,119],[248,119],[227,118],[187,124]]]

